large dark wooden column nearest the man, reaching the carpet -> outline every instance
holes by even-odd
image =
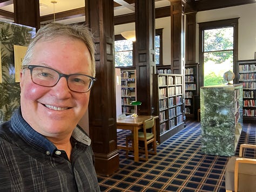
[[[114,71],[113,0],[86,0],[85,20],[95,36],[96,78],[89,103],[89,134],[98,174],[119,169]]]

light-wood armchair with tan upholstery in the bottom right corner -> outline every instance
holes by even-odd
[[[256,149],[256,145],[241,144],[239,157],[232,156],[225,173],[226,191],[256,190],[256,159],[242,157],[243,149]]]

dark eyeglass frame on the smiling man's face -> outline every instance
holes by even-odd
[[[53,68],[51,68],[51,67],[46,67],[46,66],[42,66],[42,65],[22,65],[22,69],[23,69],[23,70],[24,70],[25,68],[28,68],[28,69],[30,70],[30,78],[31,78],[31,80],[32,80],[32,82],[33,82],[34,84],[37,84],[37,83],[35,83],[35,82],[33,81],[32,71],[33,71],[33,68],[36,68],[36,67],[49,68],[50,70],[53,70],[53,71],[57,72],[58,75],[59,75],[59,78],[58,78],[58,80],[56,81],[56,83],[55,83],[54,85],[51,85],[51,86],[40,85],[40,86],[43,86],[43,87],[54,87],[55,85],[57,85],[57,83],[59,82],[59,79],[62,78],[62,77],[65,77],[66,82],[67,82],[67,85],[68,85],[68,87],[69,87],[69,81],[68,81],[69,77],[70,77],[70,76],[73,76],[73,75],[79,75],[79,76],[86,76],[86,77],[89,77],[90,79],[92,79],[91,84],[90,84],[88,90],[87,90],[87,91],[73,91],[73,90],[71,90],[70,87],[69,87],[69,89],[70,89],[71,91],[73,91],[73,92],[86,93],[86,92],[88,92],[88,91],[91,90],[93,83],[97,80],[96,78],[91,77],[91,76],[87,76],[86,74],[80,74],[80,73],[64,74],[64,73],[60,73],[60,72],[58,72],[57,70],[55,70],[55,69],[53,69]],[[39,85],[39,84],[37,84],[37,85]]]

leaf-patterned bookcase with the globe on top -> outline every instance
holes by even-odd
[[[200,88],[201,152],[233,156],[241,133],[242,85]]]

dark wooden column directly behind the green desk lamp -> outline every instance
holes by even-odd
[[[135,13],[137,100],[142,102],[138,107],[138,114],[151,115],[156,113],[154,1],[136,0]]]

